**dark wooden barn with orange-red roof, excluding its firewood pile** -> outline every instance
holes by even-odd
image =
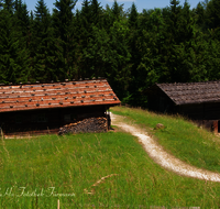
[[[85,119],[108,119],[108,109],[119,103],[106,79],[1,85],[1,133],[57,133],[59,128]],[[103,131],[109,129],[109,120],[106,123]]]

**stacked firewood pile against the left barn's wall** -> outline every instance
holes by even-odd
[[[66,124],[59,128],[59,135],[66,133],[91,133],[91,132],[107,132],[107,119],[101,118],[89,118],[81,121]]]

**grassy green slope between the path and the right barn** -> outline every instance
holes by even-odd
[[[140,109],[113,108],[144,127],[167,152],[197,167],[220,173],[220,138],[202,130],[179,116],[163,116]],[[165,129],[155,130],[157,123]]]

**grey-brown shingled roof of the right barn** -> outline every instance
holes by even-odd
[[[156,84],[176,105],[220,102],[220,80],[185,84]]]

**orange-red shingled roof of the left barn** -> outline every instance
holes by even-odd
[[[106,79],[0,86],[0,112],[119,103]]]

